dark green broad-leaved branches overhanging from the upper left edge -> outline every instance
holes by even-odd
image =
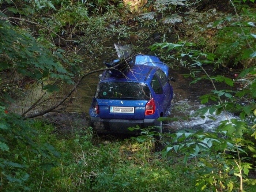
[[[16,71],[35,80],[52,78],[72,83],[73,75],[61,63],[68,63],[61,56],[61,49],[51,51],[25,30],[15,28],[3,20],[0,22],[0,35],[0,71]],[[44,88],[56,90],[50,84]]]

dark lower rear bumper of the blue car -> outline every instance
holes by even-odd
[[[122,133],[136,133],[140,131],[129,131],[129,127],[146,128],[150,126],[159,126],[157,119],[144,120],[125,120],[125,119],[102,119],[99,117],[90,117],[90,124],[93,130],[99,133],[104,132],[122,132]]]

